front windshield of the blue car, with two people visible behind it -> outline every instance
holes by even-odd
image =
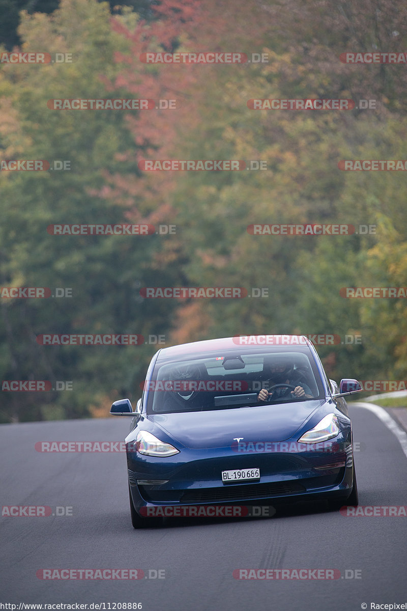
[[[157,360],[146,382],[149,413],[204,411],[323,398],[314,359],[306,348],[206,354]],[[295,397],[300,386],[304,393]],[[265,401],[259,392],[268,392]]]

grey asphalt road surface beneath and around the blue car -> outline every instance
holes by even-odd
[[[400,443],[372,412],[350,412],[360,444],[360,504],[407,506]],[[113,609],[113,603],[138,602],[144,611],[357,611],[407,602],[406,517],[347,517],[320,503],[280,509],[269,519],[177,518],[136,531],[124,453],[41,453],[34,447],[121,441],[128,425],[111,417],[0,426],[3,511],[47,506],[71,513],[2,515],[0,602],[103,602],[106,609],[107,603]],[[144,577],[39,579],[42,569],[142,569]],[[236,569],[336,569],[340,578],[235,579]]]

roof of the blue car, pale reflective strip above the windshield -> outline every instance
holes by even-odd
[[[279,348],[279,347],[306,347],[312,343],[304,335],[235,335],[234,337],[222,337],[201,342],[190,342],[162,348],[157,358],[173,359],[186,354],[214,353],[216,351],[239,351],[244,352],[245,348]]]

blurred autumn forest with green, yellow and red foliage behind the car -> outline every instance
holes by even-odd
[[[0,64],[0,159],[70,168],[0,171],[0,422],[107,415],[112,401],[139,398],[157,348],[212,337],[334,335],[334,345],[316,340],[331,378],[407,378],[405,298],[340,291],[407,284],[406,173],[338,166],[407,159],[406,64],[340,60],[403,53],[407,5],[1,0],[0,22],[2,58],[35,51],[71,59]],[[207,51],[265,61],[149,64],[142,55]],[[56,98],[175,100],[176,108],[49,108]],[[350,99],[355,108],[250,108],[249,100],[270,98]],[[360,100],[374,100],[374,108]],[[241,159],[266,169],[148,172],[143,159]],[[155,231],[49,229],[123,223]],[[248,229],[312,223],[356,229],[304,236]],[[59,288],[64,296],[9,298],[7,287]],[[264,296],[151,299],[143,287],[243,287]],[[146,341],[41,345],[42,334]],[[49,381],[60,390],[12,392],[5,381]]]

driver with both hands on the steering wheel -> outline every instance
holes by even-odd
[[[299,379],[295,378],[294,362],[292,360],[279,357],[274,359],[270,364],[264,364],[264,371],[268,373],[268,380],[264,381],[265,388],[262,388],[258,394],[258,401],[267,401],[270,395],[278,398],[312,398],[311,389],[301,381],[301,386],[298,385]],[[290,384],[294,386],[294,390],[280,386],[273,392],[273,386],[276,384]],[[269,390],[271,392],[269,392]]]

